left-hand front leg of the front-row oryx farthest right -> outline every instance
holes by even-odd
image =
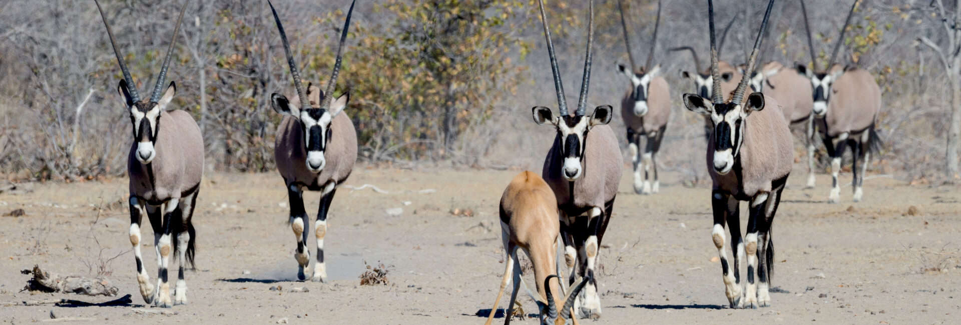
[[[727,252],[725,251],[725,221],[732,218],[738,218],[737,215],[728,216],[728,208],[731,204],[731,201],[733,201],[733,204],[736,207],[737,200],[730,195],[721,193],[720,191],[714,191],[714,193],[711,195],[711,207],[714,211],[714,228],[711,230],[711,239],[714,241],[714,246],[718,249],[718,257],[721,259],[722,280],[724,280],[727,302],[730,303],[730,308],[741,308],[744,303],[741,299],[741,286],[739,285],[737,279],[735,279],[736,271],[731,272],[730,266],[727,264]],[[736,231],[740,232],[741,229],[736,229]],[[737,261],[735,261],[735,264],[736,263]]]

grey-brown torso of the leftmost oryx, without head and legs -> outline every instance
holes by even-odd
[[[157,124],[157,156],[144,165],[136,160],[137,143],[127,156],[130,192],[148,201],[182,197],[200,185],[204,174],[204,137],[190,114],[170,110]]]

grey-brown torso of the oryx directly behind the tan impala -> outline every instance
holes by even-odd
[[[573,200],[569,182],[562,175],[564,154],[559,136],[554,137],[554,146],[544,159],[541,175],[560,205],[604,206],[617,195],[624,162],[614,130],[606,125],[591,128],[585,141],[583,172],[574,182]]]

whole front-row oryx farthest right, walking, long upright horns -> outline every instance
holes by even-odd
[[[714,211],[714,228],[711,238],[721,257],[721,270],[725,294],[731,308],[767,307],[771,304],[768,294],[770,275],[774,267],[774,241],[771,224],[777,212],[781,192],[791,173],[794,151],[791,132],[774,98],[754,92],[744,98],[750,72],[754,69],[758,49],[771,15],[774,0],[768,2],[761,29],[754,39],[748,69],[732,96],[727,101],[721,96],[721,85],[714,84],[712,98],[697,94],[684,94],[687,109],[708,115],[713,122],[711,138],[707,143],[706,162],[713,180],[711,206]],[[707,12],[714,51],[714,5],[707,0]],[[711,75],[720,75],[718,58],[711,56]],[[750,204],[748,229],[741,239],[739,201]],[[730,231],[730,247],[733,250],[733,271],[727,263],[724,223]],[[748,282],[741,288],[740,262],[747,255]],[[754,270],[757,271],[755,284]]]

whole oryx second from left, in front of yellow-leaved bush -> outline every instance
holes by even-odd
[[[290,200],[290,227],[297,240],[297,279],[307,279],[306,271],[310,263],[310,252],[307,244],[309,229],[307,211],[304,210],[304,189],[320,191],[320,208],[317,221],[314,222],[314,234],[317,239],[317,262],[313,267],[312,281],[327,280],[327,267],[324,265],[324,236],[327,234],[327,213],[336,193],[337,185],[342,184],[357,162],[357,131],[351,119],[344,114],[344,108],[350,99],[348,93],[333,99],[334,86],[337,84],[337,73],[340,70],[341,53],[344,41],[347,40],[347,30],[351,25],[351,13],[354,3],[347,11],[344,28],[340,34],[337,46],[337,57],[333,63],[331,81],[327,83],[327,91],[320,92],[317,98],[318,106],[310,104],[308,96],[313,96],[308,88],[305,94],[300,80],[297,62],[290,52],[287,35],[283,32],[281,18],[278,17],[274,5],[270,4],[270,11],[277,22],[277,30],[283,41],[283,51],[290,66],[290,75],[294,79],[297,89],[298,104],[290,103],[286,97],[274,93],[271,104],[278,113],[285,115],[277,129],[277,141],[274,159],[277,169],[283,177]],[[268,1],[269,3],[269,1]],[[317,90],[319,92],[319,89]]]

